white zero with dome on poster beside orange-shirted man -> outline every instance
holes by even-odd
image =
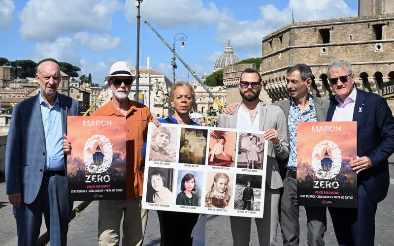
[[[99,146],[102,146],[102,150]],[[93,153],[93,154],[92,154]],[[85,168],[91,173],[103,173],[112,163],[112,144],[103,135],[93,135],[83,148]]]

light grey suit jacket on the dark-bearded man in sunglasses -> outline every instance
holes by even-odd
[[[218,120],[218,127],[237,128],[237,115],[239,104],[234,109],[234,114],[221,114]],[[278,189],[283,186],[278,159],[286,159],[289,156],[289,142],[287,140],[287,124],[284,113],[278,106],[259,102],[260,123],[259,130],[276,129],[281,140],[280,152],[276,151],[271,141],[268,141],[267,172],[266,182],[271,189]]]

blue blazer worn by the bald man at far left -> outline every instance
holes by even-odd
[[[67,115],[79,115],[76,100],[58,93],[62,130],[67,130]],[[66,171],[65,155],[65,171]],[[22,193],[22,201],[34,201],[41,186],[46,162],[44,125],[38,94],[14,106],[5,147],[6,193]],[[64,187],[66,188],[66,187]]]

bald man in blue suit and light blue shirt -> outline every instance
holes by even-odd
[[[5,181],[16,218],[18,245],[34,246],[44,214],[51,245],[67,241],[72,202],[67,201],[63,135],[78,102],[60,94],[60,68],[42,62],[35,78],[40,92],[14,106],[5,149]]]

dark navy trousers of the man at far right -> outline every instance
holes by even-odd
[[[360,184],[357,188],[357,208],[328,208],[338,244],[373,246],[377,207],[378,204],[369,198]]]

